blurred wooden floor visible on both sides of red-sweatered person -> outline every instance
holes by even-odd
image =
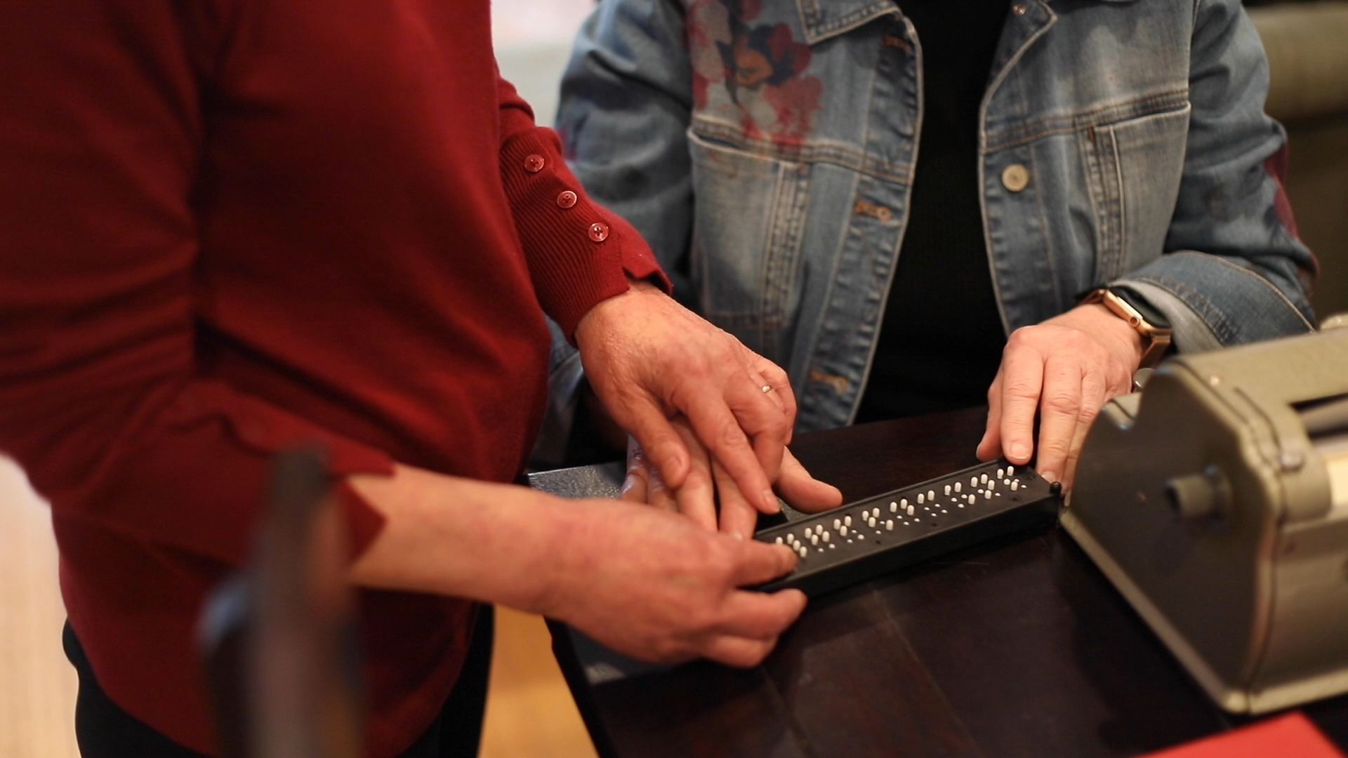
[[[75,758],[75,677],[47,507],[0,459],[0,757]],[[483,758],[594,755],[543,620],[497,608]]]

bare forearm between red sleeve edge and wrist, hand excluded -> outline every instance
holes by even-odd
[[[384,529],[350,566],[365,587],[429,592],[542,611],[570,554],[584,506],[516,487],[396,465],[352,490]]]

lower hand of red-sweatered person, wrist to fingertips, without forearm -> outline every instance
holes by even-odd
[[[805,595],[739,589],[795,566],[790,548],[735,540],[658,508],[572,500],[570,529],[535,612],[635,658],[762,661]]]

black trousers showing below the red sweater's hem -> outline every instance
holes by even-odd
[[[473,758],[483,732],[487,677],[492,664],[495,615],[491,606],[477,612],[468,658],[454,689],[430,727],[398,758]],[[113,703],[93,676],[74,630],[62,633],[66,657],[80,674],[75,700],[75,740],[84,758],[206,758],[159,734]]]

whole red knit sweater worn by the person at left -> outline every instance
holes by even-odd
[[[661,274],[499,80],[488,0],[7,0],[0,71],[0,449],[51,500],[100,682],[209,751],[195,619],[268,456],[508,482],[539,303],[569,333]],[[344,507],[368,545],[380,517]],[[470,604],[361,610],[386,757],[453,685]]]

